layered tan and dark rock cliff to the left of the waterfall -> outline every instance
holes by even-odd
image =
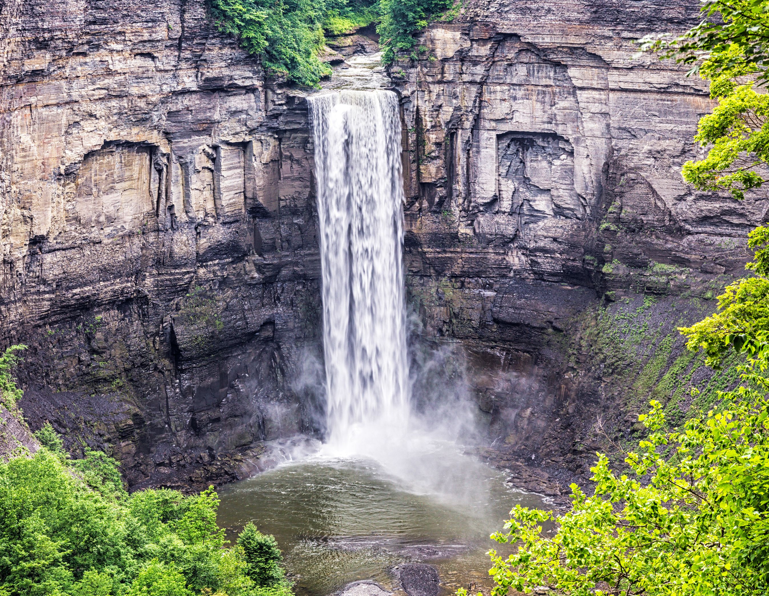
[[[0,341],[29,346],[32,428],[131,484],[227,478],[225,454],[311,431],[306,107],[204,2],[0,8]]]

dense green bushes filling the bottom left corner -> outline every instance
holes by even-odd
[[[0,596],[290,596],[274,538],[259,534],[275,546],[265,568],[225,548],[218,502],[213,488],[128,495],[98,451],[0,464]]]

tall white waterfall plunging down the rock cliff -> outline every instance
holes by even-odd
[[[308,102],[320,223],[327,445],[361,453],[375,436],[404,432],[409,416],[398,97],[342,91]]]

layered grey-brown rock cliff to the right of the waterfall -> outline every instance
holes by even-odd
[[[634,56],[633,40],[681,32],[697,9],[470,2],[391,69],[408,130],[413,308],[424,335],[459,341],[492,435],[527,459],[589,442],[597,415],[624,416],[580,344],[586,313],[637,306],[637,295],[659,302],[653,310],[670,306],[665,296],[713,298],[764,219],[763,194],[734,201],[681,178],[703,155],[692,137],[713,105],[707,83]]]

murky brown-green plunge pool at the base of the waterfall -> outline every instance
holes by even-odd
[[[361,579],[391,589],[390,570],[404,561],[434,564],[445,594],[471,582],[489,588],[485,553],[499,546],[489,534],[514,504],[547,504],[452,446],[428,451],[400,467],[321,456],[282,464],[222,488],[219,523],[231,538],[248,521],[275,534],[298,594]]]

